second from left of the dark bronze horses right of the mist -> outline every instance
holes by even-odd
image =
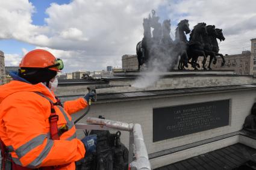
[[[204,56],[204,60],[202,61],[202,67],[205,70],[207,69],[205,67],[205,62],[207,58],[204,52],[204,41],[202,40],[202,36],[207,34],[208,33],[206,29],[206,23],[204,22],[198,23],[196,26],[194,26],[192,32],[190,33],[187,55],[189,57],[189,64],[191,64],[195,70],[198,69],[198,64],[196,63],[198,61],[198,56]]]

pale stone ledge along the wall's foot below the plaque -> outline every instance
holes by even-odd
[[[153,168],[169,165],[170,163],[186,160],[200,154],[228,147],[233,144],[243,144],[251,148],[256,148],[256,134],[240,130],[238,132],[228,133],[203,141],[194,142],[192,144],[180,147],[170,148],[169,150],[159,151],[149,154],[149,160]],[[186,156],[181,157],[181,154]],[[165,161],[164,161],[165,160]],[[169,163],[167,163],[169,162]]]

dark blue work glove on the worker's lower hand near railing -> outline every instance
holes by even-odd
[[[97,135],[86,136],[81,141],[83,142],[84,147],[86,148],[86,154],[96,152]]]

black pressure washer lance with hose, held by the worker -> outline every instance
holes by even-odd
[[[76,124],[78,121],[80,121],[83,117],[85,117],[88,112],[90,111],[90,105],[92,104],[92,102],[96,102],[97,101],[97,93],[96,93],[96,89],[101,89],[101,88],[111,88],[111,87],[131,87],[131,85],[92,85],[87,87],[88,93],[94,93],[95,96],[90,97],[89,102],[88,102],[88,106],[87,106],[87,111],[84,112],[83,115],[81,115],[81,117],[78,117],[75,121],[74,124]]]

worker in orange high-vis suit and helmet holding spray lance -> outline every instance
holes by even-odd
[[[16,169],[75,169],[75,161],[96,150],[96,136],[76,139],[70,117],[86,108],[93,93],[64,106],[51,91],[63,62],[46,50],[23,56],[13,80],[0,86],[0,139]],[[5,162],[6,163],[6,162]]]

